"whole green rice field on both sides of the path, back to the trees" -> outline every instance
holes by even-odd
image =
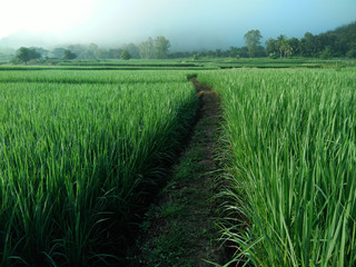
[[[221,98],[217,160],[226,174],[224,237],[238,247],[231,261],[354,266],[354,66],[317,59],[0,66],[0,266],[120,263],[139,214],[186,141],[199,106],[187,80],[194,76]]]

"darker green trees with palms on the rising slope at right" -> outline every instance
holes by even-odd
[[[279,34],[277,38],[269,38],[265,47],[261,46],[263,36],[259,30],[249,30],[244,39],[246,44],[244,47],[195,53],[200,57],[356,58],[356,22],[316,36],[306,32],[300,39]]]

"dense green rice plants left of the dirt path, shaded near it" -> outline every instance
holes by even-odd
[[[117,263],[197,108],[186,81],[130,76],[115,85],[0,83],[1,266]]]

